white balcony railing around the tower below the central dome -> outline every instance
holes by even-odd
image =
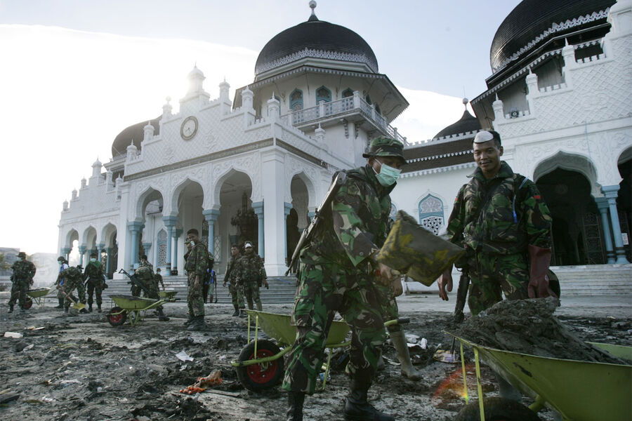
[[[400,142],[407,144],[406,140],[397,133],[397,129],[390,126],[383,115],[378,113],[373,105],[360,98],[360,95],[353,95],[341,100],[324,102],[321,101],[316,107],[298,109],[294,112],[281,116],[282,121],[291,121],[293,126],[303,126],[305,124],[317,123],[322,119],[331,119],[349,112],[357,111],[364,119],[378,128],[383,134],[391,138],[397,138]]]

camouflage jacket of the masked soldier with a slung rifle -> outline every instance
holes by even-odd
[[[301,252],[302,262],[331,261],[345,267],[360,267],[386,241],[390,219],[390,192],[368,164],[347,172],[347,178],[323,210],[322,224],[310,245]],[[367,271],[368,265],[364,265]]]

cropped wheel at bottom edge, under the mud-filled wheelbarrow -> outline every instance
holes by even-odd
[[[520,402],[505,398],[487,398],[485,421],[541,421],[540,417]],[[480,421],[478,401],[472,401],[459,411],[454,421]]]

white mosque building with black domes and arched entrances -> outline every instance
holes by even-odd
[[[197,228],[219,273],[230,245],[249,239],[268,274],[281,275],[331,175],[363,165],[378,135],[404,142],[408,162],[393,214],[440,234],[475,169],[475,133],[494,128],[503,159],[551,208],[553,265],[630,261],[632,0],[523,0],[494,36],[475,116],[466,108],[424,142],[390,125],[408,102],[367,42],[310,7],[306,22],[265,44],[254,81],[232,100],[226,81],[211,100],[194,68],[177,113],[167,98],[160,116],[121,131],[112,159],[93,163],[64,202],[60,252],[76,246],[85,261],[100,251],[110,276],[145,253],[176,275],[185,232]]]

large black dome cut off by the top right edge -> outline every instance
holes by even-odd
[[[598,19],[605,22],[605,16],[593,13],[605,11],[613,4],[614,0],[521,1],[494,35],[489,51],[492,70],[496,72],[515,59],[514,55],[520,54],[522,48],[530,50],[551,36],[572,32]]]

